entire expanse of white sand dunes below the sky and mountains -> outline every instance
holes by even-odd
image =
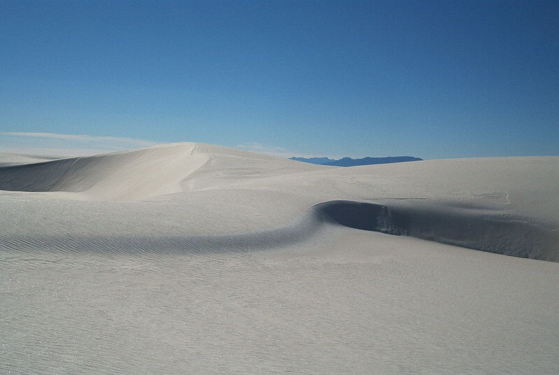
[[[555,373],[558,186],[559,157],[0,164],[0,370]]]

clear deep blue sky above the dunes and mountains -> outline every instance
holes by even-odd
[[[558,1],[3,0],[0,151],[559,155],[557,20]]]

